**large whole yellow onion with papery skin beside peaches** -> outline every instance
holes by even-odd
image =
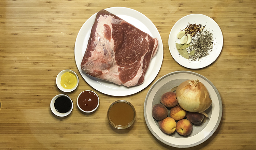
[[[199,80],[187,80],[176,89],[179,105],[190,112],[203,112],[212,104],[207,88]]]

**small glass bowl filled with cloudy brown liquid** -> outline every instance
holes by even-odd
[[[125,102],[117,102],[109,109],[109,120],[118,127],[127,126],[134,117],[133,108]]]

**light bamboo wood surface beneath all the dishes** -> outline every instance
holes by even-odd
[[[101,9],[122,6],[147,16],[163,41],[163,63],[155,80],[144,90],[124,97],[102,94],[79,73],[74,57],[77,33],[84,22]],[[222,52],[203,69],[188,69],[171,56],[168,36],[183,16],[204,14],[213,18],[223,33]],[[191,150],[252,150],[256,146],[256,2],[178,0],[1,0],[0,1],[0,150],[6,149],[178,149],[156,139],[148,129],[143,107],[153,83],[174,71],[193,71],[207,77],[217,88],[223,115],[215,133]],[[83,90],[94,90],[100,106],[82,114],[76,104],[60,119],[49,104],[61,94],[55,79],[71,69],[79,86],[67,93],[73,102]],[[136,111],[136,121],[126,130],[108,123],[111,103],[124,99]]]

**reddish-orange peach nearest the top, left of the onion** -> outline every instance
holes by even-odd
[[[176,106],[178,104],[178,101],[176,99],[176,93],[172,91],[166,92],[161,96],[160,103],[168,108]]]

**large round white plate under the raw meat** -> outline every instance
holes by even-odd
[[[82,62],[88,39],[91,32],[91,27],[94,24],[94,20],[96,17],[96,14],[92,15],[82,26],[79,33],[77,34],[76,41],[75,41],[75,62],[77,65],[77,68],[79,72],[81,73],[82,77],[85,79],[85,81],[94,89],[98,90],[99,92],[102,92],[104,94],[112,95],[112,96],[126,96],[131,95],[134,93],[137,93],[144,88],[146,88],[157,76],[163,60],[163,44],[161,36],[155,27],[155,25],[152,23],[150,19],[148,19],[145,15],[142,13],[129,9],[126,7],[110,7],[105,9],[118,17],[126,20],[128,23],[132,24],[133,26],[139,28],[140,30],[148,33],[152,37],[157,37],[159,42],[159,47],[156,55],[152,58],[150,65],[148,67],[147,73],[145,74],[145,79],[143,84],[139,86],[134,87],[125,87],[123,85],[116,85],[112,82],[104,81],[95,77],[91,77],[87,74],[85,74],[80,64]]]

